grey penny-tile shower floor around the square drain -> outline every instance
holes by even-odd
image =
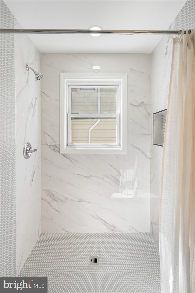
[[[159,253],[150,233],[42,233],[19,277],[48,277],[49,293],[160,293]]]

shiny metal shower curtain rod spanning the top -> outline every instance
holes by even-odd
[[[10,29],[1,28],[2,34],[181,34],[180,31],[123,31],[123,30],[45,30],[45,29]],[[188,34],[190,34],[190,30]],[[184,31],[186,34],[186,31]]]

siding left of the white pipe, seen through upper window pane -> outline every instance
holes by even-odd
[[[71,113],[98,113],[98,89],[71,88]]]

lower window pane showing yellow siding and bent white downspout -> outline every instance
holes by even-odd
[[[116,118],[71,118],[71,143],[116,143]]]

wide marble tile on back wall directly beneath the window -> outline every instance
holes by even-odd
[[[42,188],[129,188],[127,155],[60,154],[59,145],[42,144]]]

